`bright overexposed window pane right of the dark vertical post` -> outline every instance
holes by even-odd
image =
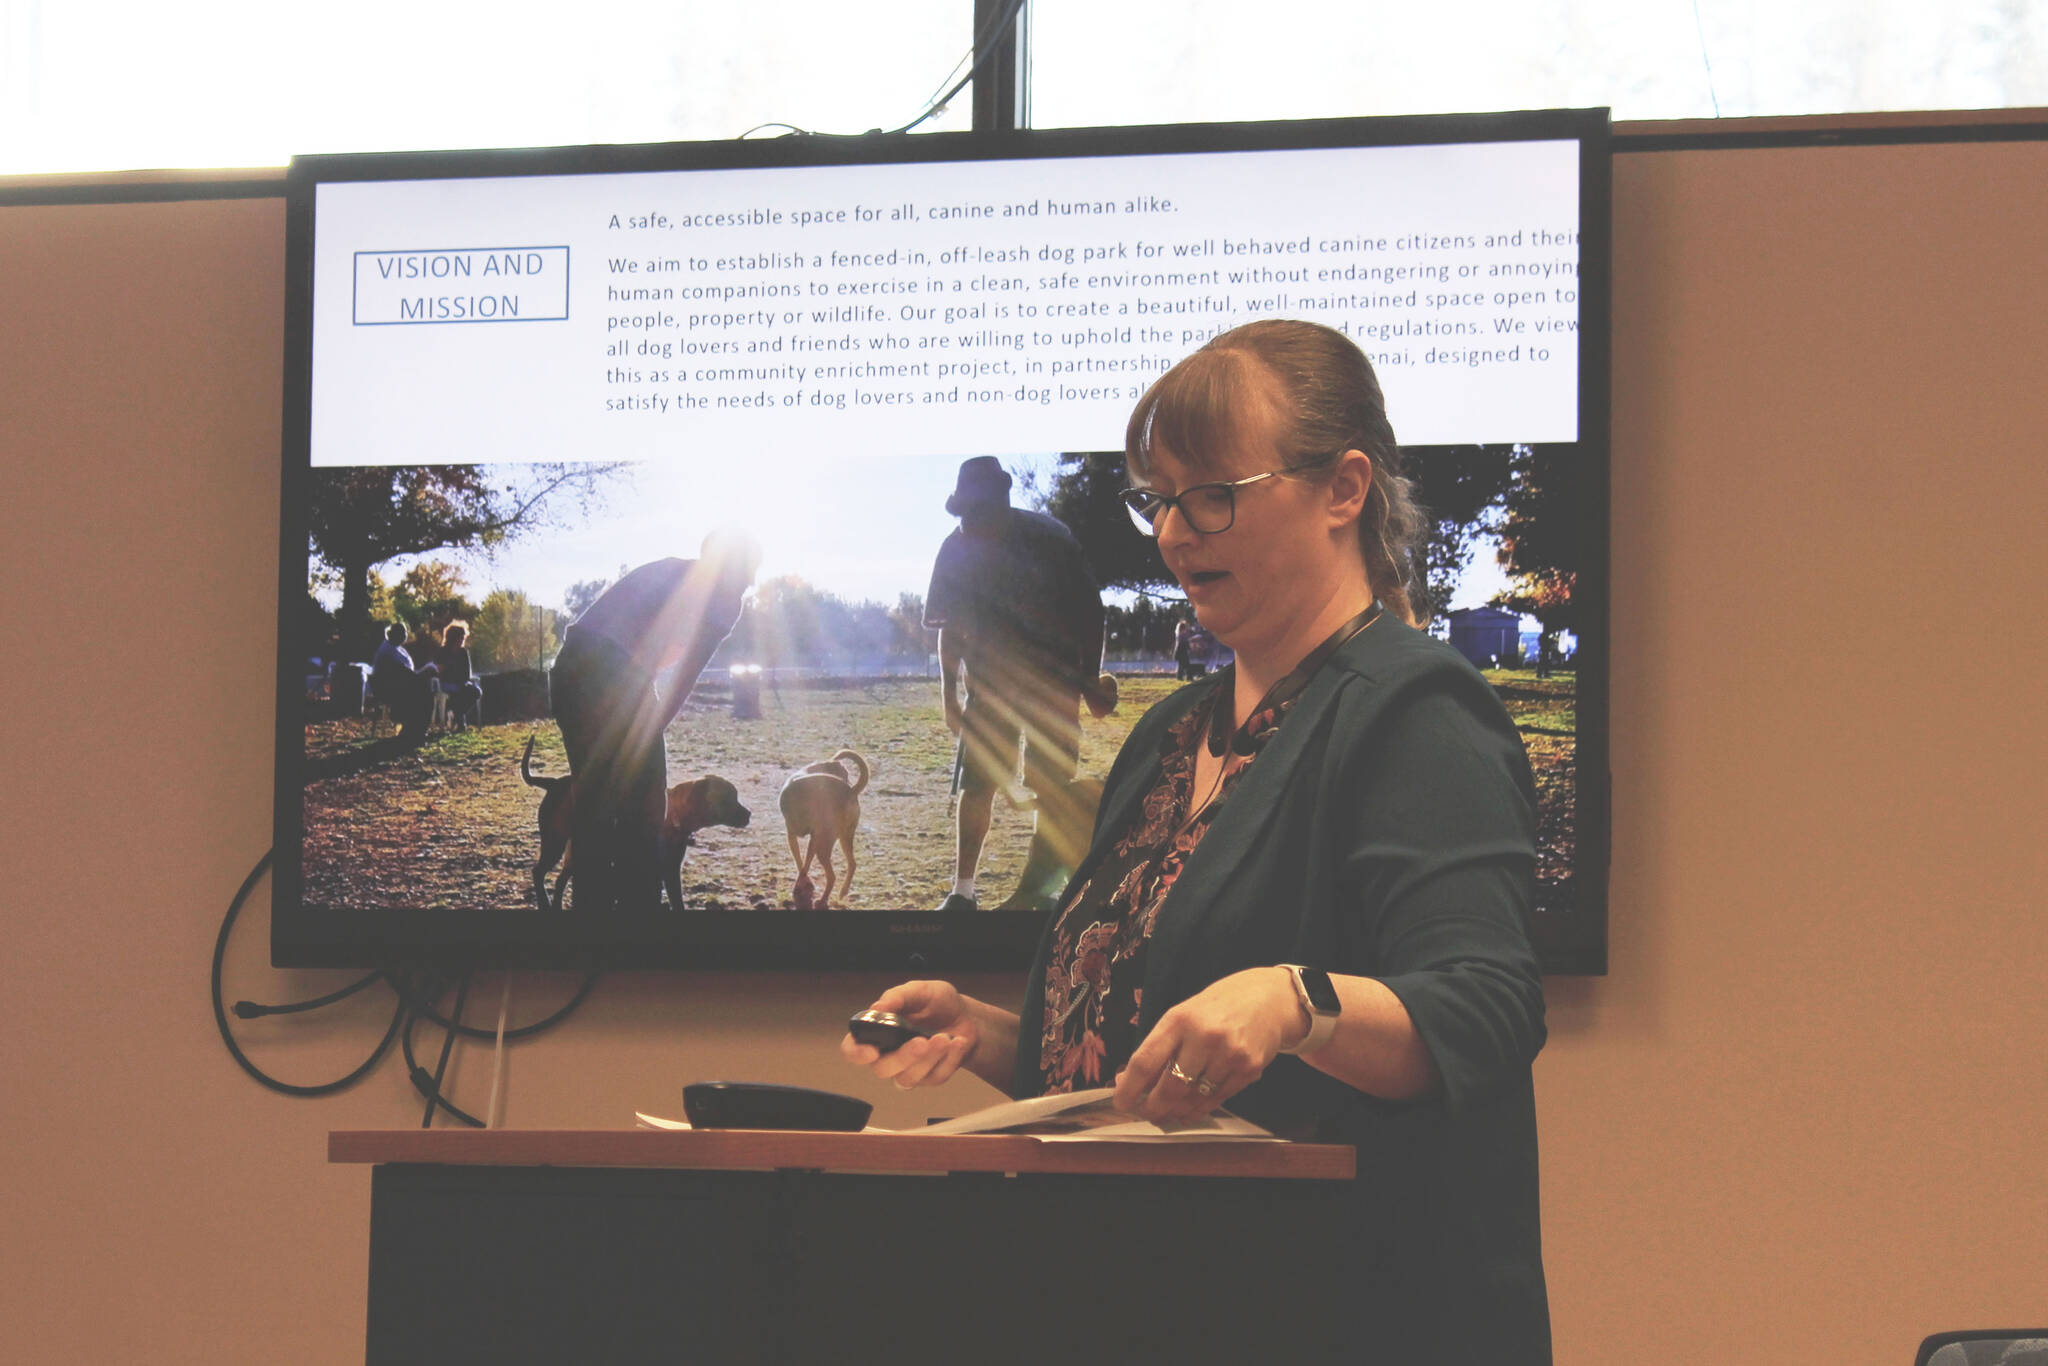
[[[1034,0],[1032,123],[2048,104],[2034,0]]]

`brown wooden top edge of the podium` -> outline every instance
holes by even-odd
[[[1018,1135],[788,1128],[342,1128],[332,1163],[678,1167],[709,1171],[1047,1171],[1350,1180],[1358,1153],[1321,1143],[1040,1143]]]

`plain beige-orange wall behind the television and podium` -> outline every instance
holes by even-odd
[[[1538,1063],[1561,1362],[2048,1321],[2042,223],[2040,141],[1618,158],[1614,971],[1552,981]],[[324,1135],[418,1124],[397,1065],[260,1092],[207,1010],[270,834],[281,238],[276,201],[0,209],[10,1362],[360,1360],[369,1173]],[[328,981],[264,913],[229,999]],[[879,985],[610,979],[510,1120],[725,1075],[909,1122],[834,1057]],[[381,1010],[244,1036],[317,1079]]]

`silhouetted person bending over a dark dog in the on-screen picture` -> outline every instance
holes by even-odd
[[[662,901],[662,731],[739,621],[760,551],[713,532],[698,559],[657,559],[606,588],[563,633],[549,700],[569,754],[578,911],[653,911]]]

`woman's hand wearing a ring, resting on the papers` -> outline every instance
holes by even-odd
[[[1257,1081],[1300,1020],[1284,969],[1231,973],[1159,1016],[1116,1075],[1116,1108],[1155,1122],[1200,1118]]]

